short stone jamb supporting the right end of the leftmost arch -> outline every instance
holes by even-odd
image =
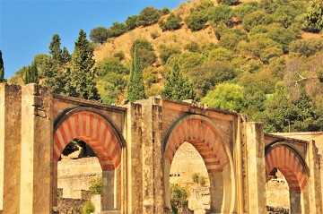
[[[115,181],[115,170],[106,170],[102,172],[102,212],[103,213],[116,213],[117,211],[117,195],[116,195],[116,181]]]

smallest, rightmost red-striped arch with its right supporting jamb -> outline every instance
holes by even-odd
[[[308,175],[304,161],[295,150],[277,143],[266,149],[266,177],[273,175],[273,170],[281,172],[289,187],[290,213],[302,213],[304,207],[303,190]]]

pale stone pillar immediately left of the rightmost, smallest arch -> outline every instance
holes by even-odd
[[[246,123],[249,212],[266,213],[264,125]]]

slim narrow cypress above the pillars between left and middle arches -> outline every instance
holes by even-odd
[[[130,78],[127,85],[127,98],[130,101],[145,98],[143,68],[140,64],[139,53],[136,49],[130,66]]]

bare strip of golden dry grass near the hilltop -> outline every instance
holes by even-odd
[[[178,14],[182,20],[188,16],[189,10],[192,7],[200,4],[201,0],[192,1],[189,3],[182,3],[179,7],[175,8],[171,13]],[[215,4],[216,0],[214,0]],[[166,19],[168,15],[162,17]],[[207,44],[210,42],[217,43],[217,39],[214,35],[214,31],[211,26],[205,30],[199,30],[192,32],[188,29],[188,26],[182,21],[182,27],[179,30],[174,31],[162,31],[158,24],[154,24],[148,27],[139,27],[135,30],[131,30],[118,38],[109,39],[100,47],[96,47],[94,50],[94,59],[97,62],[102,61],[104,58],[113,56],[118,51],[125,53],[125,63],[130,60],[130,48],[136,39],[147,39],[154,47],[155,53],[159,56],[160,45],[166,44],[170,47],[178,47],[183,50],[185,45],[190,41],[195,41],[200,45]],[[151,34],[157,32],[161,36],[153,39]]]

